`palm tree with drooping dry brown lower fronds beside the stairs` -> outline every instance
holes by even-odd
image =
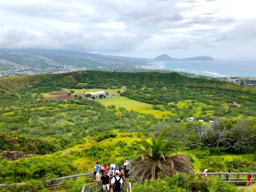
[[[170,173],[189,173],[192,170],[192,162],[188,160],[190,157],[176,153],[185,148],[178,148],[180,143],[167,141],[165,136],[166,129],[163,129],[158,139],[152,137],[151,142],[145,139],[138,142],[141,149],[135,152],[141,156],[133,158],[130,163],[135,164],[131,171],[133,178],[140,177],[139,184],[143,180],[157,178],[159,172],[168,176]]]

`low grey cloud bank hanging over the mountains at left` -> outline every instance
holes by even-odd
[[[138,34],[86,34],[80,32],[53,31],[39,34],[37,31],[17,27],[0,29],[0,45],[3,48],[43,48],[90,51],[129,51],[150,39],[150,35]]]

